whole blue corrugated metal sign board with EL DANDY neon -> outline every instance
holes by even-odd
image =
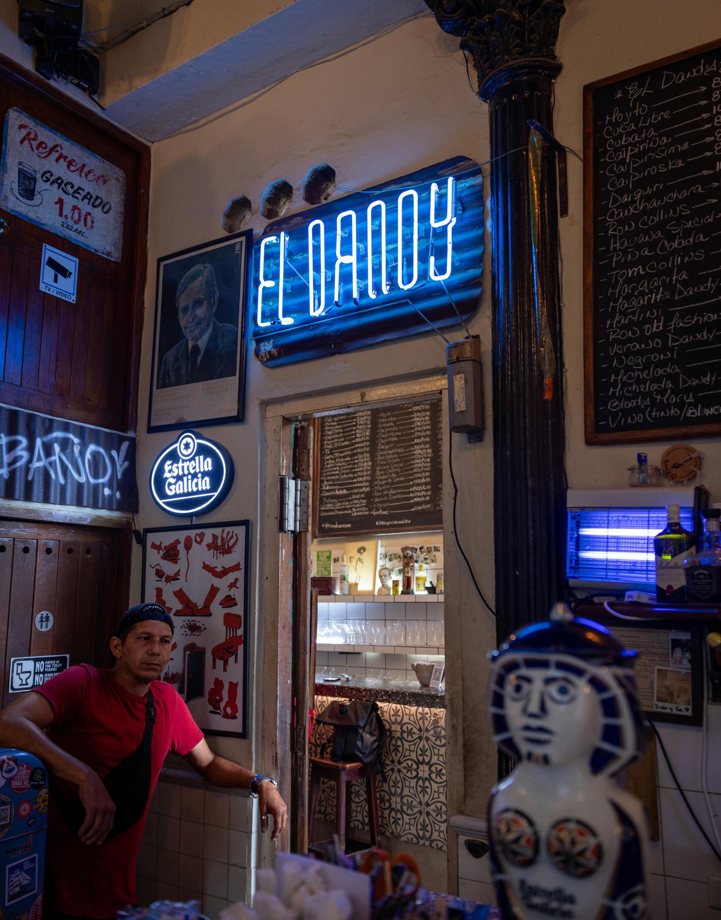
[[[481,169],[457,156],[269,224],[253,248],[256,357],[303,361],[467,319],[483,208]]]

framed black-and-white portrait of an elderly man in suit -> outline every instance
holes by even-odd
[[[158,259],[149,432],[243,421],[252,234]]]

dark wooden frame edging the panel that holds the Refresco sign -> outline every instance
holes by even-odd
[[[86,124],[105,132],[114,140],[130,148],[139,155],[138,189],[134,201],[137,224],[132,254],[132,294],[131,294],[131,362],[128,367],[128,400],[125,406],[125,431],[135,431],[138,420],[138,382],[140,377],[140,357],[143,339],[143,312],[145,298],[145,280],[148,267],[148,206],[150,201],[150,156],[151,148],[134,134],[124,131],[102,114],[86,108],[74,98],[56,89],[48,80],[43,79],[5,54],[0,54],[0,79],[6,80],[29,92],[51,99],[54,106],[63,109],[68,115],[85,121]],[[22,408],[22,407],[19,407]]]

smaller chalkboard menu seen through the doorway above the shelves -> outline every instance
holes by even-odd
[[[441,397],[319,420],[315,536],[441,530]]]

